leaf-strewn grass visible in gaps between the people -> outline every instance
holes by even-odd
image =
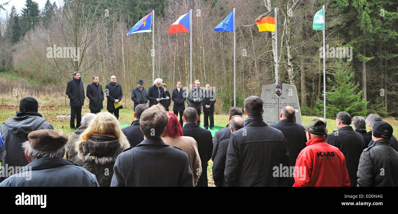
[[[9,118],[15,116],[16,111],[18,111],[18,106],[15,105],[2,105],[0,109],[0,121],[5,121]],[[105,110],[102,110],[105,112]],[[90,109],[82,109],[82,115],[89,113]],[[43,118],[54,125],[55,130],[63,132],[64,134],[70,136],[74,130],[70,129],[69,118],[57,119],[57,115],[69,115],[70,109],[63,107],[39,107],[39,113],[43,115]],[[121,124],[131,124],[134,121],[133,109],[121,109],[119,112],[119,122]],[[304,125],[307,125],[314,116],[302,116]],[[394,118],[383,118],[384,121],[390,123],[394,128],[394,135],[398,136],[398,121]],[[201,115],[201,121],[203,121],[203,114]],[[214,115],[214,121],[216,126],[226,126],[228,124],[228,115]],[[334,119],[326,119],[328,134],[332,133],[336,129],[336,121]],[[369,131],[369,128],[368,128]],[[209,166],[207,167],[207,177],[209,180],[209,186],[214,186],[213,175],[211,168],[213,166],[213,161],[209,161]]]

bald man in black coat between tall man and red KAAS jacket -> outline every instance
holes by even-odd
[[[271,124],[270,126],[282,131],[286,138],[286,146],[289,151],[289,167],[295,166],[296,159],[301,150],[306,147],[307,138],[305,136],[304,126],[295,122],[296,111],[291,106],[283,107],[281,120],[278,123]],[[290,177],[291,185],[295,183],[293,177]]]

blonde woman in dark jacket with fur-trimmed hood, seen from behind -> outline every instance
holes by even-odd
[[[109,187],[117,156],[129,147],[116,117],[101,112],[75,142],[75,162],[96,175],[100,187]]]

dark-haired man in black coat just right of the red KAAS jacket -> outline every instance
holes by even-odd
[[[358,132],[355,132],[351,126],[351,116],[349,113],[341,111],[336,115],[337,131],[328,135],[326,142],[332,146],[339,148],[345,157],[345,164],[351,187],[357,186],[357,172],[359,165],[359,158],[361,158],[362,151],[367,147],[363,137]]]

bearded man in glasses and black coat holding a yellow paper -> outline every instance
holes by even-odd
[[[122,100],[123,91],[120,84],[116,83],[115,75],[111,76],[111,82],[105,86],[105,96],[107,98],[106,109],[119,120],[119,109],[123,109],[123,105],[115,109],[113,103],[119,103]]]

